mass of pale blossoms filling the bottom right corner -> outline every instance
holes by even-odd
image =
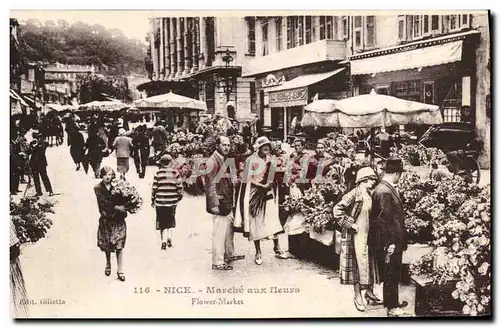
[[[447,203],[453,213],[447,210],[443,218],[433,221],[435,245],[440,246],[444,261],[430,272],[422,261],[413,263],[411,269],[417,274],[425,271],[436,283],[458,280],[451,296],[463,303],[462,312],[487,315],[491,311],[490,189],[475,186],[465,190],[463,181],[452,180],[447,181],[449,186],[436,187],[442,199],[450,199],[450,195],[444,195],[447,188],[465,194],[461,204],[453,197]],[[437,250],[429,254],[437,255]]]

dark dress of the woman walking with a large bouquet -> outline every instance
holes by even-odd
[[[94,187],[99,206],[99,228],[97,229],[97,246],[103,252],[114,252],[125,247],[127,239],[127,224],[125,218],[127,213],[115,210],[115,205],[111,187],[109,190],[103,182]]]

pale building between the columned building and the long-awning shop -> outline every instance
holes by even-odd
[[[340,16],[246,17],[253,55],[243,76],[255,78],[257,114],[275,137],[312,99],[348,95],[348,70]]]

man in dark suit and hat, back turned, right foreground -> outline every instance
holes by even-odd
[[[403,251],[408,245],[403,203],[396,185],[404,172],[403,161],[389,159],[385,174],[372,195],[372,212],[368,245],[373,247],[381,279],[384,282],[384,306],[389,316],[407,316],[399,303],[398,287],[401,276]]]

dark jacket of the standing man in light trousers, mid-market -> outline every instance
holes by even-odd
[[[212,212],[212,208],[218,207],[218,215],[229,215],[234,207],[233,181],[229,176],[224,176],[220,172],[224,158],[217,151],[210,156],[209,162],[211,170],[205,176],[207,212],[216,214]],[[234,173],[236,174],[236,172]]]

